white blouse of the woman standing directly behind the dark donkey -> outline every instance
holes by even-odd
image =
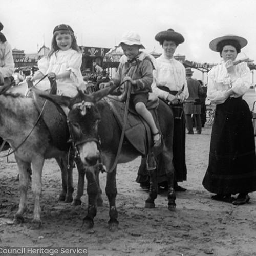
[[[179,91],[183,85],[185,87],[182,95],[187,99],[189,93],[183,64],[174,58],[167,59],[163,54],[157,58],[154,83],[152,84],[153,92],[158,97],[166,100],[169,93],[159,89],[157,86],[166,86],[170,91]]]

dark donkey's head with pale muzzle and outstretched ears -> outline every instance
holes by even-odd
[[[80,159],[86,166],[95,165],[100,156],[98,123],[100,113],[96,103],[112,90],[108,87],[92,94],[78,91],[74,98],[58,95],[40,95],[54,103],[70,109],[67,117],[71,139]]]

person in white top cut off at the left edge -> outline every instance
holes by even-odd
[[[14,72],[12,48],[1,32],[3,28],[4,26],[0,22],[0,85],[11,83],[11,76]]]

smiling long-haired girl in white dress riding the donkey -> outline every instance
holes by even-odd
[[[52,49],[47,57],[38,61],[39,70],[31,78],[36,81],[47,75],[56,79],[57,94],[74,97],[77,88],[84,84],[81,74],[82,54],[77,45],[73,29],[66,24],[60,24],[53,30]],[[40,81],[36,88],[50,88],[49,79]]]

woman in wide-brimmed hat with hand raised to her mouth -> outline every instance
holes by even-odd
[[[247,40],[239,36],[218,37],[210,49],[223,61],[208,74],[207,96],[216,104],[212,126],[209,165],[203,186],[213,199],[248,203],[256,190],[256,156],[251,113],[242,96],[250,87],[250,70],[235,59]],[[237,198],[231,195],[239,194]]]

